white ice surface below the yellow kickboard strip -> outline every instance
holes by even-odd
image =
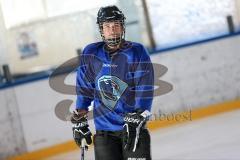
[[[151,132],[153,160],[240,160],[240,110]],[[45,160],[80,160],[80,150]],[[93,147],[85,160],[94,160]]]

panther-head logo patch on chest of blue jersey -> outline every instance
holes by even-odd
[[[98,79],[101,100],[106,107],[113,110],[117,101],[127,88],[127,83],[116,76],[102,76]]]

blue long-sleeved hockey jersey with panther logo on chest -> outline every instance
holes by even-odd
[[[76,109],[93,103],[96,130],[123,129],[123,116],[137,109],[151,110],[154,71],[146,49],[125,41],[115,53],[104,42],[85,47],[77,69]]]

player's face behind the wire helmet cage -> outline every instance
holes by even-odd
[[[120,37],[122,34],[122,25],[120,22],[104,22],[103,35],[105,39]]]

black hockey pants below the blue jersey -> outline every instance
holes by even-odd
[[[121,131],[96,131],[93,143],[95,160],[151,160],[150,135],[147,129],[140,132],[135,152],[124,149]]]

